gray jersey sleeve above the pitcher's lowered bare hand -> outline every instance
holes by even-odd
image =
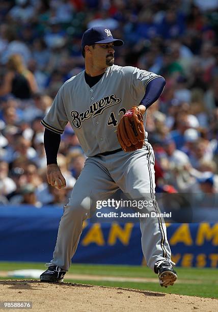
[[[63,101],[63,88],[64,85],[59,89],[50,110],[41,121],[41,124],[45,128],[57,134],[63,134],[65,126],[68,123]]]

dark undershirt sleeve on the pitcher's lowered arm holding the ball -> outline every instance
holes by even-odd
[[[57,155],[61,143],[61,135],[45,128],[44,147],[47,165],[57,164]]]

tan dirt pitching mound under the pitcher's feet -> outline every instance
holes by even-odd
[[[218,304],[217,299],[36,280],[1,280],[0,301],[32,301],[31,311],[38,312],[215,311]]]

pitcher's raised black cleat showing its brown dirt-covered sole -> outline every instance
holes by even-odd
[[[176,271],[173,269],[174,262],[171,260],[160,260],[155,263],[154,272],[158,274],[159,284],[161,287],[168,287],[173,285],[177,280]]]

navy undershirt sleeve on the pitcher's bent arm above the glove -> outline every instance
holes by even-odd
[[[146,86],[145,95],[140,104],[148,109],[159,98],[165,85],[166,81],[163,77],[156,77],[151,80]]]

